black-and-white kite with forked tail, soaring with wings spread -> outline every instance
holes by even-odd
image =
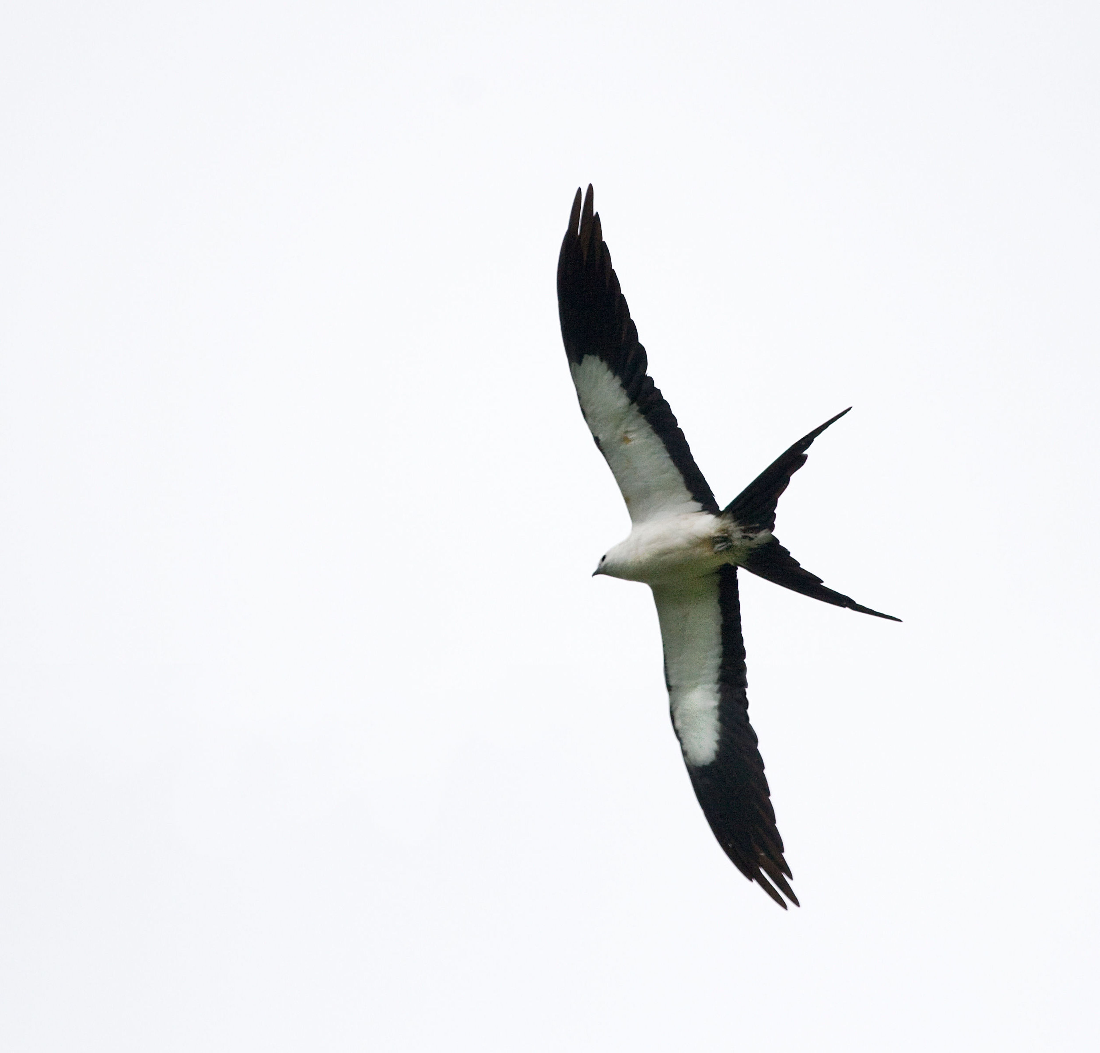
[[[749,724],[737,568],[838,607],[901,621],[825,588],[772,533],[776,503],[810,445],[848,410],[799,439],[719,508],[646,372],[646,349],[612,270],[591,185],[583,207],[576,191],[561,244],[558,311],[581,413],[630,513],[629,537],[601,558],[595,574],[653,590],[672,726],[703,813],[741,874],[784,910],[784,896],[798,907]]]

